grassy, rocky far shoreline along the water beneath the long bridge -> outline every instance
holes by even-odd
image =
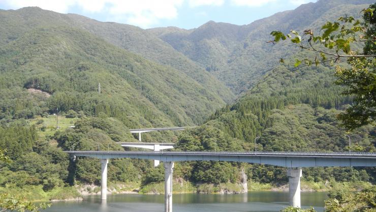
[[[173,184],[173,194],[241,194],[250,192],[288,192],[289,187],[287,184],[271,185],[260,184],[252,180],[247,183],[247,190],[244,192],[241,188],[241,184],[192,184],[189,181],[183,181]],[[372,186],[369,182],[312,182],[302,181],[301,192],[313,193],[313,192],[329,192],[331,190],[347,190],[347,191],[359,191],[364,188]],[[12,192],[12,190],[3,190],[4,192]],[[18,192],[21,192],[18,190]],[[37,193],[35,193],[37,192]],[[41,186],[33,186],[23,188],[22,192],[26,198],[33,199],[36,196],[35,202],[59,202],[59,201],[83,201],[85,197],[91,195],[101,195],[100,186],[97,185],[76,185],[73,187],[59,187],[52,191],[44,192]],[[164,183],[148,184],[141,187],[139,183],[111,183],[108,187],[108,195],[116,194],[145,194],[145,195],[163,195]]]

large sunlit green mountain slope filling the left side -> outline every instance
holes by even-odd
[[[185,64],[192,68],[186,72],[197,71],[201,83],[184,71],[107,42],[74,24],[71,16],[39,8],[0,11],[0,85],[6,90],[2,93],[3,118],[29,118],[53,112],[57,106],[61,112],[73,109],[87,115],[102,111],[128,127],[185,126],[202,123],[224,105],[220,94],[226,101],[232,98],[224,85],[204,71],[200,74],[195,64]],[[134,32],[132,37],[139,38],[136,34],[141,29],[124,27],[130,28],[122,28],[124,32]],[[28,107],[33,98],[28,88],[52,96],[47,103],[36,100]]]

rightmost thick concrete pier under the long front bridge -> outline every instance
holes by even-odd
[[[289,177],[290,205],[300,207],[300,177],[302,168],[289,168],[287,170]]]

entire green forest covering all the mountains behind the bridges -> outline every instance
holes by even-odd
[[[132,128],[198,125],[143,137],[174,142],[177,150],[252,152],[259,137],[260,151],[344,152],[348,134],[352,151],[374,152],[374,126],[347,132],[336,117],[353,98],[333,83],[333,67],[295,68],[301,52],[266,43],[276,19],[297,14],[280,30],[319,26],[343,13],[359,15],[368,2],[321,0],[246,26],[209,22],[190,31],[143,30],[39,8],[0,10],[0,148],[13,161],[0,164],[0,191],[22,188],[52,199],[77,195],[72,186],[99,185],[97,159],[73,162],[63,151],[122,150],[115,142],[137,141]],[[299,22],[309,9],[312,19]],[[216,45],[227,52],[211,51]],[[292,59],[278,64],[287,55]],[[57,129],[50,117],[72,123]],[[243,171],[249,182],[287,183],[285,168],[227,162],[176,163],[174,177],[238,184]],[[163,172],[148,160],[114,159],[108,177],[142,190],[163,181]],[[374,168],[303,169],[312,183],[375,177]]]

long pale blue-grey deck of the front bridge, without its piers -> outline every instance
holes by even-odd
[[[98,152],[68,151],[70,155],[110,158],[137,158],[171,161],[232,161],[283,167],[376,166],[375,153],[306,153],[306,152]]]

